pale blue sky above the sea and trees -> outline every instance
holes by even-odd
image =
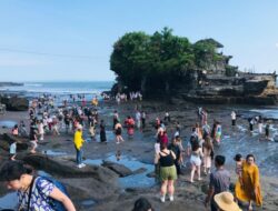
[[[0,81],[110,81],[126,32],[214,38],[240,70],[278,70],[277,0],[1,0]]]

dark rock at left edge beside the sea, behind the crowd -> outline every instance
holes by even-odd
[[[8,111],[27,111],[29,101],[19,97],[1,97],[1,103],[6,104]]]

